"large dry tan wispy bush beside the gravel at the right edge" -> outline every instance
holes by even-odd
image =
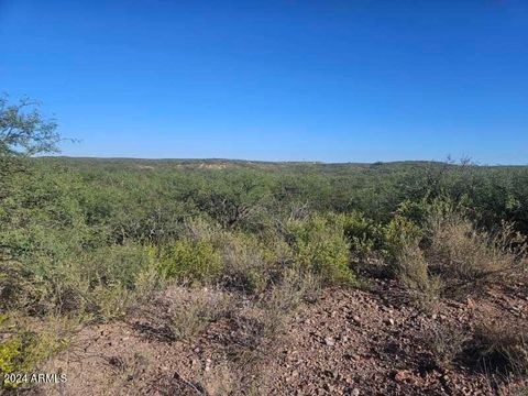
[[[391,265],[415,301],[427,310],[435,308],[442,294],[465,295],[486,283],[506,279],[518,273],[526,257],[526,240],[512,224],[484,232],[454,209],[431,211],[422,237],[409,230],[402,221],[388,230]],[[413,238],[404,238],[406,234]]]

